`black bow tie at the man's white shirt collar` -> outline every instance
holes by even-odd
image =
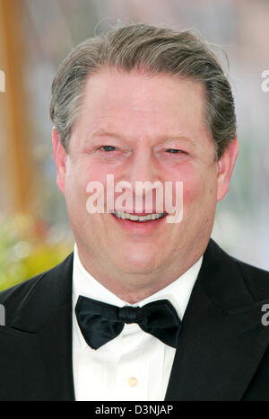
[[[95,299],[79,296],[75,314],[85,341],[98,349],[121,333],[125,323],[137,323],[161,342],[177,348],[181,321],[168,299],[139,307],[118,308]]]

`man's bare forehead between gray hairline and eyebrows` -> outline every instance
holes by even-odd
[[[191,135],[205,129],[204,106],[204,87],[199,83],[105,68],[87,79],[79,124],[88,132],[122,129],[126,135],[154,136],[180,129]]]

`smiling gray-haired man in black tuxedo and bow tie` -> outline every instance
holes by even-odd
[[[1,398],[268,400],[269,273],[210,238],[238,155],[210,49],[146,24],[85,40],[57,71],[50,114],[74,254],[0,294]],[[108,175],[126,205],[108,209]],[[146,190],[139,212],[138,182],[172,184],[173,202],[183,185],[181,216],[167,222],[177,205],[157,197],[145,210]],[[89,204],[97,184],[103,211]]]

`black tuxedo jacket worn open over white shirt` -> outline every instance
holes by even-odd
[[[73,254],[0,293],[1,400],[74,400]],[[269,400],[269,272],[211,239],[189,299],[165,400]]]

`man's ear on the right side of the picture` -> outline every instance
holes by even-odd
[[[217,201],[221,201],[229,190],[230,176],[239,154],[238,138],[234,138],[218,161]]]

